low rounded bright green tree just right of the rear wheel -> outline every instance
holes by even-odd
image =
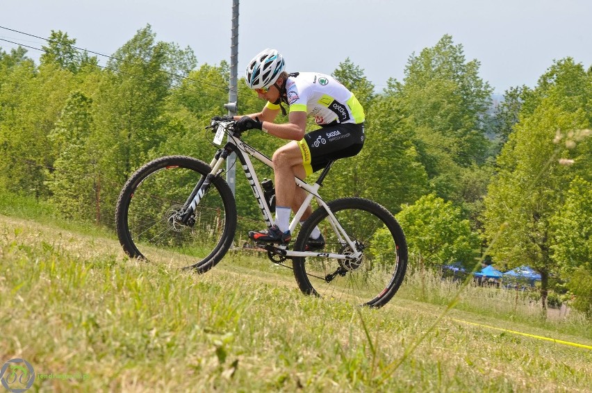
[[[460,208],[435,194],[422,196],[416,203],[403,206],[397,220],[404,228],[409,255],[421,265],[438,266],[460,261],[475,265],[479,236],[471,231]]]

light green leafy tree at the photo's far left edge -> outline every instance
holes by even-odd
[[[13,192],[45,197],[45,168],[57,152],[48,140],[75,81],[53,65],[38,72],[33,62],[19,62],[0,90],[0,184]]]

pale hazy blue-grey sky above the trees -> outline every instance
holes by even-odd
[[[151,25],[156,39],[190,47],[198,66],[230,59],[233,0],[0,0],[0,39],[40,48],[16,31],[49,37],[63,31],[76,47],[112,55]],[[238,77],[265,48],[277,49],[289,72],[331,74],[346,58],[380,91],[402,81],[411,56],[443,35],[495,93],[536,86],[554,60],[592,65],[590,0],[242,0]],[[16,47],[0,40],[9,51]],[[37,60],[42,52],[28,49]],[[104,65],[106,58],[99,57]]]

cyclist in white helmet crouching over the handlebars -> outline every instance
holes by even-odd
[[[294,177],[304,180],[327,166],[330,160],[355,156],[364,144],[364,110],[350,90],[329,75],[288,74],[284,69],[285,62],[278,51],[265,49],[258,53],[249,62],[245,79],[258,97],[268,102],[261,112],[235,118],[238,131],[257,128],[292,141],[273,154],[275,223],[266,230],[249,232],[249,237],[256,242],[290,242],[290,210],[297,212],[306,197]],[[282,103],[289,108],[288,123],[275,124],[280,110],[286,115]],[[319,129],[306,133],[307,115],[314,117]],[[302,220],[311,213],[309,206]],[[307,248],[323,247],[322,234],[315,228]]]

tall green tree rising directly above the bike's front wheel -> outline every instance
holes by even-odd
[[[109,135],[113,158],[120,164],[123,177],[168,136],[159,130],[165,124],[166,99],[177,78],[171,70],[189,67],[193,58],[190,51],[156,42],[156,34],[148,25],[109,60],[97,112],[104,120],[103,131]],[[174,61],[181,65],[175,66]]]

